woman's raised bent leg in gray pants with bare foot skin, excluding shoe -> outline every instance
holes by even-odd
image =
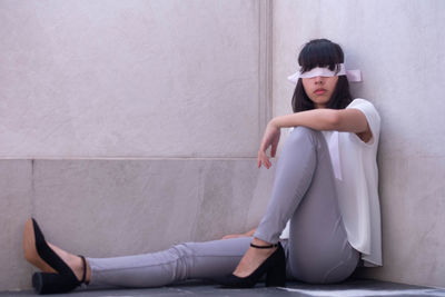
[[[350,275],[358,253],[349,246],[342,222],[326,140],[320,131],[304,127],[286,140],[254,240],[276,244],[288,219],[288,275],[312,283],[338,281]],[[249,275],[265,258],[264,251],[249,248],[235,274]]]

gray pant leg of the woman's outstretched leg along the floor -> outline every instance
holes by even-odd
[[[176,245],[167,250],[116,258],[88,258],[90,285],[159,287],[231,273],[251,237]]]

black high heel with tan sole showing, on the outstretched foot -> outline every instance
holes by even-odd
[[[23,251],[28,261],[46,271],[32,275],[32,287],[36,293],[67,293],[85,283],[87,275],[85,257],[79,255],[83,265],[82,279],[79,280],[71,268],[48,246],[33,218],[28,220],[24,227]]]

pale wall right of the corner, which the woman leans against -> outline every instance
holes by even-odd
[[[343,46],[353,85],[382,116],[378,154],[384,267],[367,277],[445,287],[445,2],[275,1],[274,115],[290,112],[297,53],[313,38]]]

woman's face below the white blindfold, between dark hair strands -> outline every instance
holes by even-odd
[[[301,78],[303,88],[309,99],[314,102],[315,108],[326,108],[326,105],[337,86],[337,76]]]

